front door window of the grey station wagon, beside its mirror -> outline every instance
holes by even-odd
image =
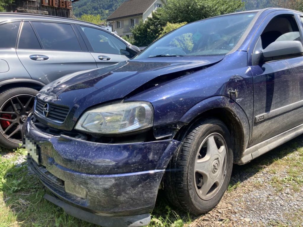
[[[123,54],[129,53],[125,50],[126,44],[118,37],[96,28],[81,26],[83,32],[92,45],[94,52],[105,54]]]

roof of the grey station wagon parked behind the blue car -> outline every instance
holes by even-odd
[[[80,21],[71,18],[63,18],[63,17],[55,17],[48,15],[38,15],[38,14],[30,14],[30,13],[6,13],[0,12],[0,23],[9,20],[45,20],[45,21],[56,21],[56,22],[68,22],[68,23],[78,23],[83,25],[94,26],[98,28],[104,29],[100,25],[96,25],[86,21]],[[106,29],[104,29],[106,30]]]

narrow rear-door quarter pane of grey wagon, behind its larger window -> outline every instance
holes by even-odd
[[[35,32],[29,22],[24,22],[19,38],[19,49],[41,49]]]

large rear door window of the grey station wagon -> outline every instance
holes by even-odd
[[[71,25],[50,22],[32,22],[32,25],[37,31],[43,49],[82,51]]]

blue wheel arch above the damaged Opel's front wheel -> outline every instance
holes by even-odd
[[[250,125],[244,110],[228,97],[211,97],[193,106],[180,119],[187,125],[180,129],[175,138],[183,141],[197,120],[210,117],[223,121],[230,130],[234,144],[234,163],[241,164],[240,160],[250,139]]]

